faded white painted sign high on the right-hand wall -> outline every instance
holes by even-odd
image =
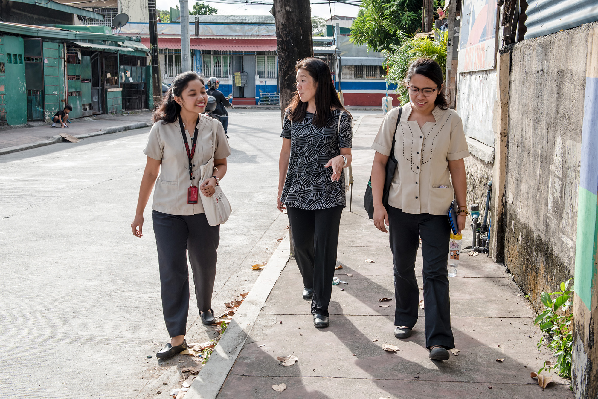
[[[496,0],[463,0],[458,72],[494,69]]]

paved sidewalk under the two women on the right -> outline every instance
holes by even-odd
[[[484,255],[463,253],[457,277],[450,278],[458,356],[444,362],[429,359],[423,310],[409,339],[393,336],[388,235],[374,228],[362,205],[374,154],[369,148],[380,121],[379,116],[364,116],[355,125],[352,212],[349,207],[343,211],[337,258],[343,268],[336,272],[349,284],[333,287],[330,326],[313,327],[310,303],[301,298],[301,275],[295,260],[289,260],[218,398],[571,398],[567,380],[553,374],[556,383],[542,391],[530,378],[551,354],[536,349],[541,334],[533,326],[535,312],[511,275]],[[471,231],[463,241],[471,241]],[[416,274],[423,286],[421,253]],[[393,300],[379,302],[383,297]],[[400,351],[383,351],[385,343]],[[276,360],[290,354],[299,359],[293,366]],[[287,388],[282,393],[272,388],[283,383]]]

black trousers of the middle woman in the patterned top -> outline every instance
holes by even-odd
[[[313,289],[312,314],[329,316],[343,205],[318,210],[286,207],[286,210],[303,286]]]

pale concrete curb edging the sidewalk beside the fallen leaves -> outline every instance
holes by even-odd
[[[228,377],[237,356],[243,349],[245,341],[254,328],[260,311],[270,295],[270,291],[285,268],[291,253],[289,251],[289,234],[280,242],[276,251],[268,260],[266,268],[255,281],[249,294],[237,309],[230,324],[205,366],[193,380],[185,399],[215,399]]]

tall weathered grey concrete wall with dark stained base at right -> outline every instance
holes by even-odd
[[[511,49],[504,257],[538,311],[573,276],[590,25]]]

